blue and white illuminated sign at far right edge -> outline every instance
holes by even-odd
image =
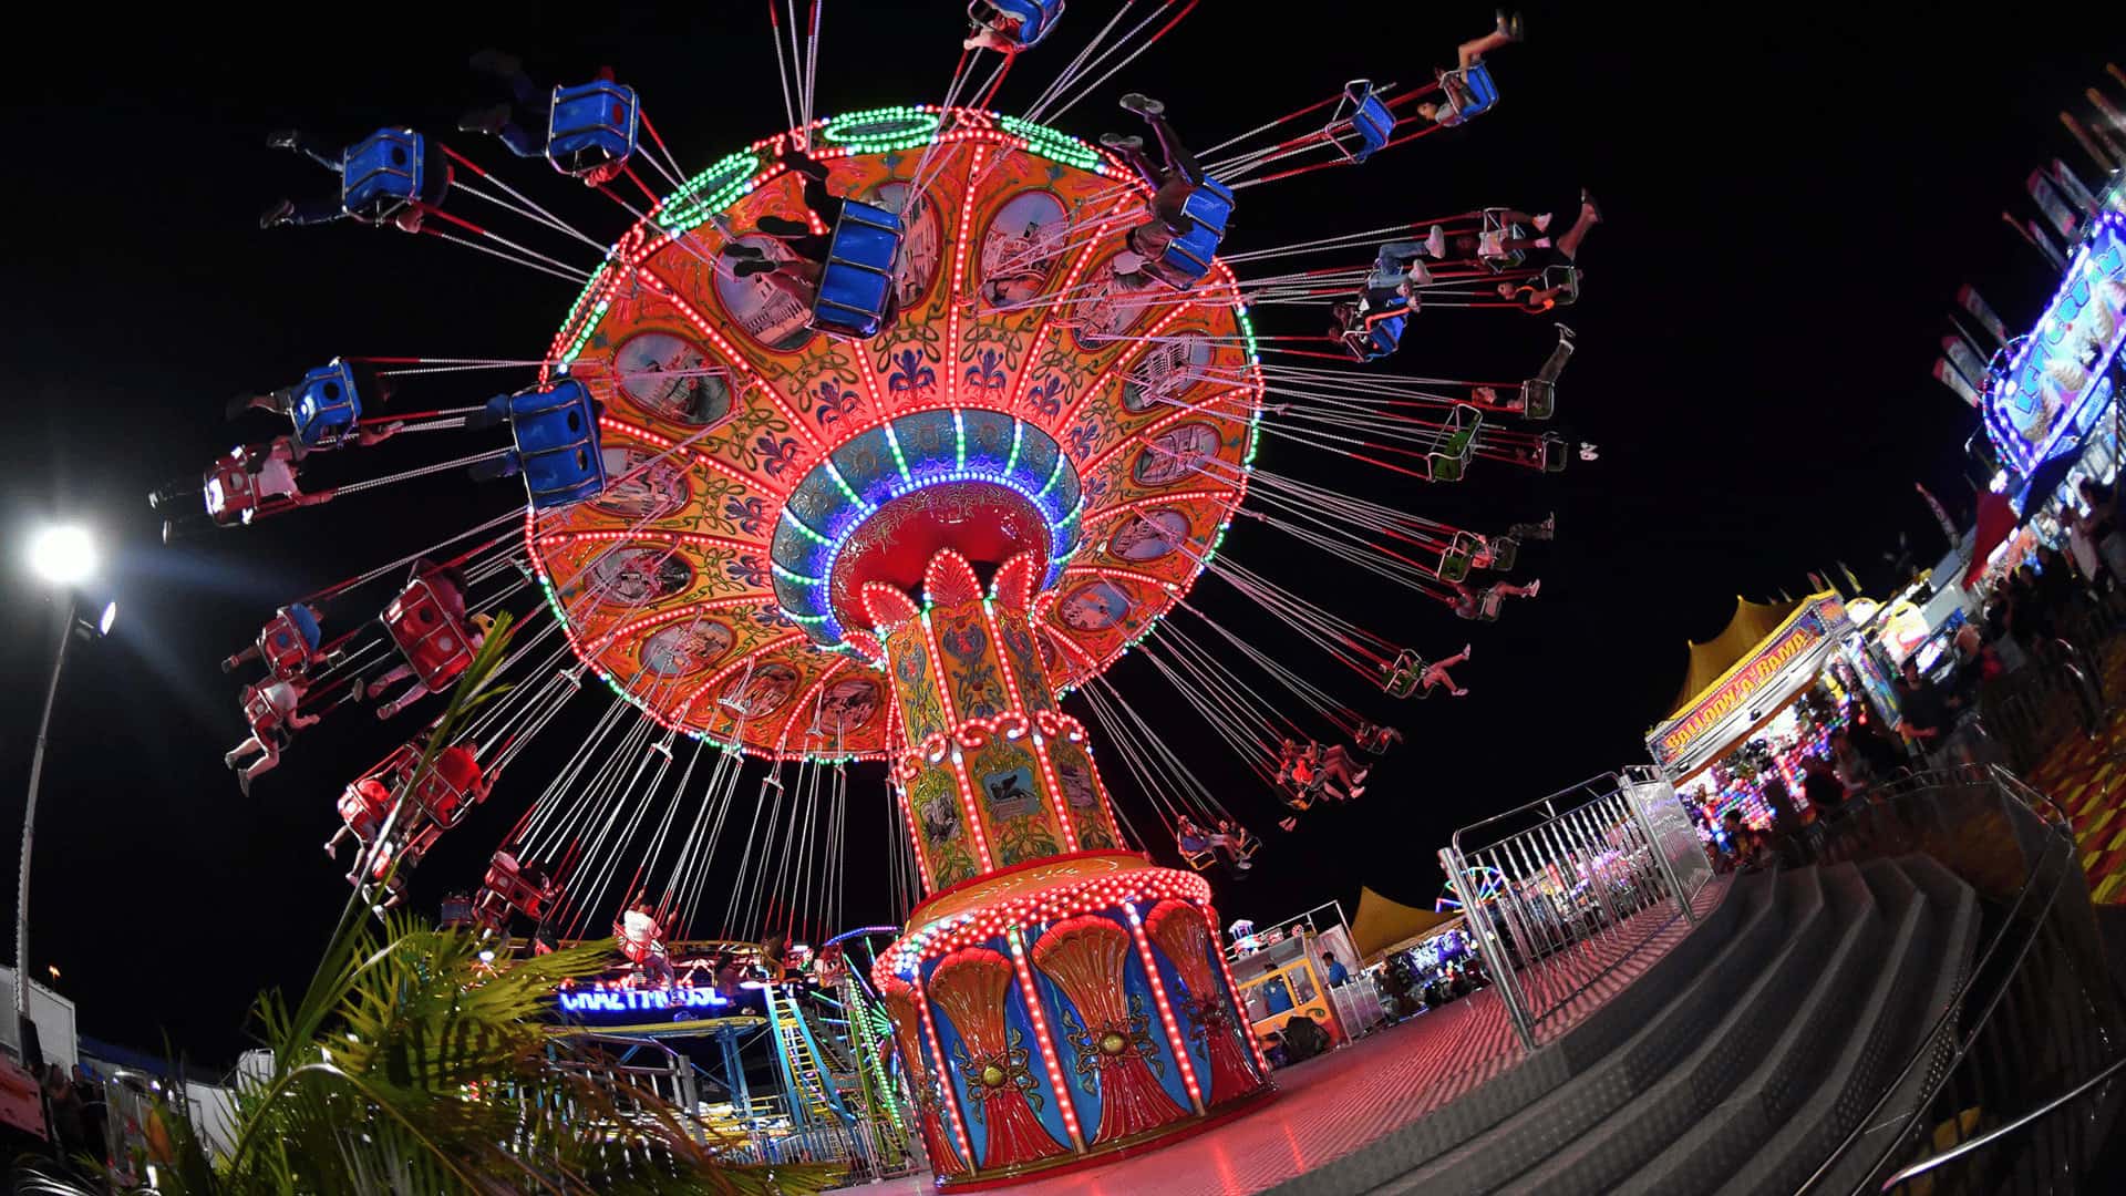
[[[2105,211],[2090,221],[2037,328],[2001,351],[1986,383],[1986,434],[2018,472],[2052,458],[2090,400],[2111,394],[2105,370],[2122,343],[2126,213]]]

